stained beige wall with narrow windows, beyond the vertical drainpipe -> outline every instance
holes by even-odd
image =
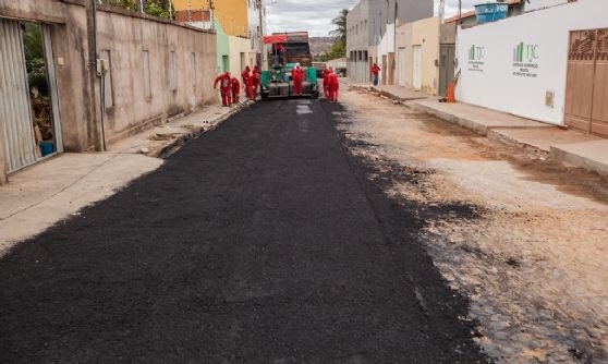
[[[215,100],[215,34],[113,12],[99,12],[98,27],[98,49],[110,51],[114,104],[106,108],[107,139]],[[144,51],[149,54],[150,97],[144,89]]]

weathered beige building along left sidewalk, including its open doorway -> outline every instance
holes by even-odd
[[[92,7],[0,0],[0,81],[10,83],[0,89],[0,180],[57,153],[102,150],[215,101],[215,33]],[[41,78],[26,73],[27,35],[44,39]]]

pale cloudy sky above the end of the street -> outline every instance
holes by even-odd
[[[269,33],[307,31],[313,37],[326,37],[336,28],[331,20],[342,9],[352,9],[358,0],[263,0]],[[374,1],[374,0],[372,0]],[[423,1],[423,0],[413,0]],[[435,1],[437,12],[438,0]],[[483,0],[462,0],[462,11],[473,9]],[[458,0],[446,0],[446,17],[458,13]]]

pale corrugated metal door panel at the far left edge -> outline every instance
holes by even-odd
[[[0,19],[0,138],[9,172],[36,161],[26,77],[20,24]]]

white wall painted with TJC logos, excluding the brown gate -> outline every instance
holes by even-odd
[[[608,16],[598,16],[606,13],[606,0],[579,0],[459,29],[457,57],[462,74],[457,98],[530,119],[563,124],[569,32],[608,27]],[[514,49],[520,43],[526,49],[534,49],[535,52],[531,53],[536,56],[532,61],[524,60],[524,66],[516,66],[513,60]],[[470,61],[472,47],[475,47],[476,59]],[[527,69],[527,72],[521,72],[521,69]],[[525,73],[528,75],[522,75]],[[546,92],[555,93],[552,108],[545,106]]]

